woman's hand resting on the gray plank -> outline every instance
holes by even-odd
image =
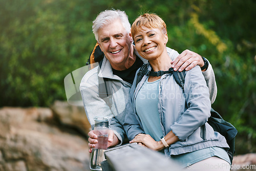
[[[160,151],[164,148],[164,145],[161,141],[155,141],[150,135],[147,134],[138,134],[135,138],[130,141],[130,143],[137,142],[142,143],[146,147],[154,149],[155,151]]]

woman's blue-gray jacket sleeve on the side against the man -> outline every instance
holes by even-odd
[[[137,76],[137,73],[136,73],[136,76]],[[140,126],[140,123],[138,120],[139,117],[137,116],[137,114],[135,114],[135,111],[133,109],[133,104],[134,104],[133,97],[134,97],[135,88],[136,88],[136,77],[134,79],[133,86],[131,88],[129,102],[126,105],[126,115],[125,115],[124,124],[123,124],[127,138],[130,141],[134,139],[134,137],[138,134],[145,134],[142,127]]]

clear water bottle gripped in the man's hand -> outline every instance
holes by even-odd
[[[109,117],[96,116],[94,121],[94,133],[98,136],[98,143],[92,149],[90,169],[102,170],[100,163],[105,160],[104,151],[108,148]]]

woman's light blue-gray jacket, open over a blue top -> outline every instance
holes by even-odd
[[[151,70],[149,64],[148,70]],[[134,82],[131,88],[131,98],[126,106],[124,120],[124,129],[129,140],[139,133],[144,133],[134,102],[147,77],[144,76],[137,87]],[[136,78],[137,74],[135,80]],[[164,74],[160,79],[158,97],[163,135],[173,131],[180,139],[165,148],[166,156],[193,152],[211,146],[229,147],[225,138],[218,132],[214,132],[207,123],[211,102],[209,90],[199,66],[186,73],[184,92],[172,74]]]

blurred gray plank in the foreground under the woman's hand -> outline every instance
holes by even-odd
[[[116,171],[181,170],[173,160],[137,143],[110,148],[105,152],[105,157]]]

